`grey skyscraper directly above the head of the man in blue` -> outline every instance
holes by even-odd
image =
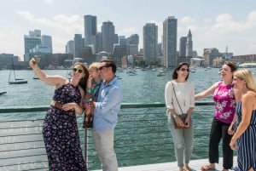
[[[112,53],[114,42],[114,26],[111,21],[102,23],[102,50]]]

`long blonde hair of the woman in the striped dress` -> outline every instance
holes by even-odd
[[[234,76],[246,80],[246,87],[256,93],[256,83],[252,71],[248,69],[235,71]]]

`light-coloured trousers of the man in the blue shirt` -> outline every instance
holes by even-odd
[[[102,162],[103,171],[118,171],[118,162],[113,150],[113,129],[92,129],[93,144]]]

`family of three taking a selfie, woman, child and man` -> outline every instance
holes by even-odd
[[[93,143],[102,169],[117,171],[113,134],[123,88],[115,77],[117,68],[113,60],[101,60],[91,64],[89,69],[77,62],[73,65],[71,79],[45,74],[33,58],[29,66],[41,81],[55,87],[43,126],[49,171],[87,170],[79,142],[76,114],[86,116],[91,113],[94,116]]]

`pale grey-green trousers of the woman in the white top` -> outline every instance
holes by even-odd
[[[174,143],[177,167],[183,168],[184,163],[189,163],[194,148],[194,128],[191,121],[189,128],[174,128],[175,122],[171,114],[168,115],[168,127],[171,130]]]

